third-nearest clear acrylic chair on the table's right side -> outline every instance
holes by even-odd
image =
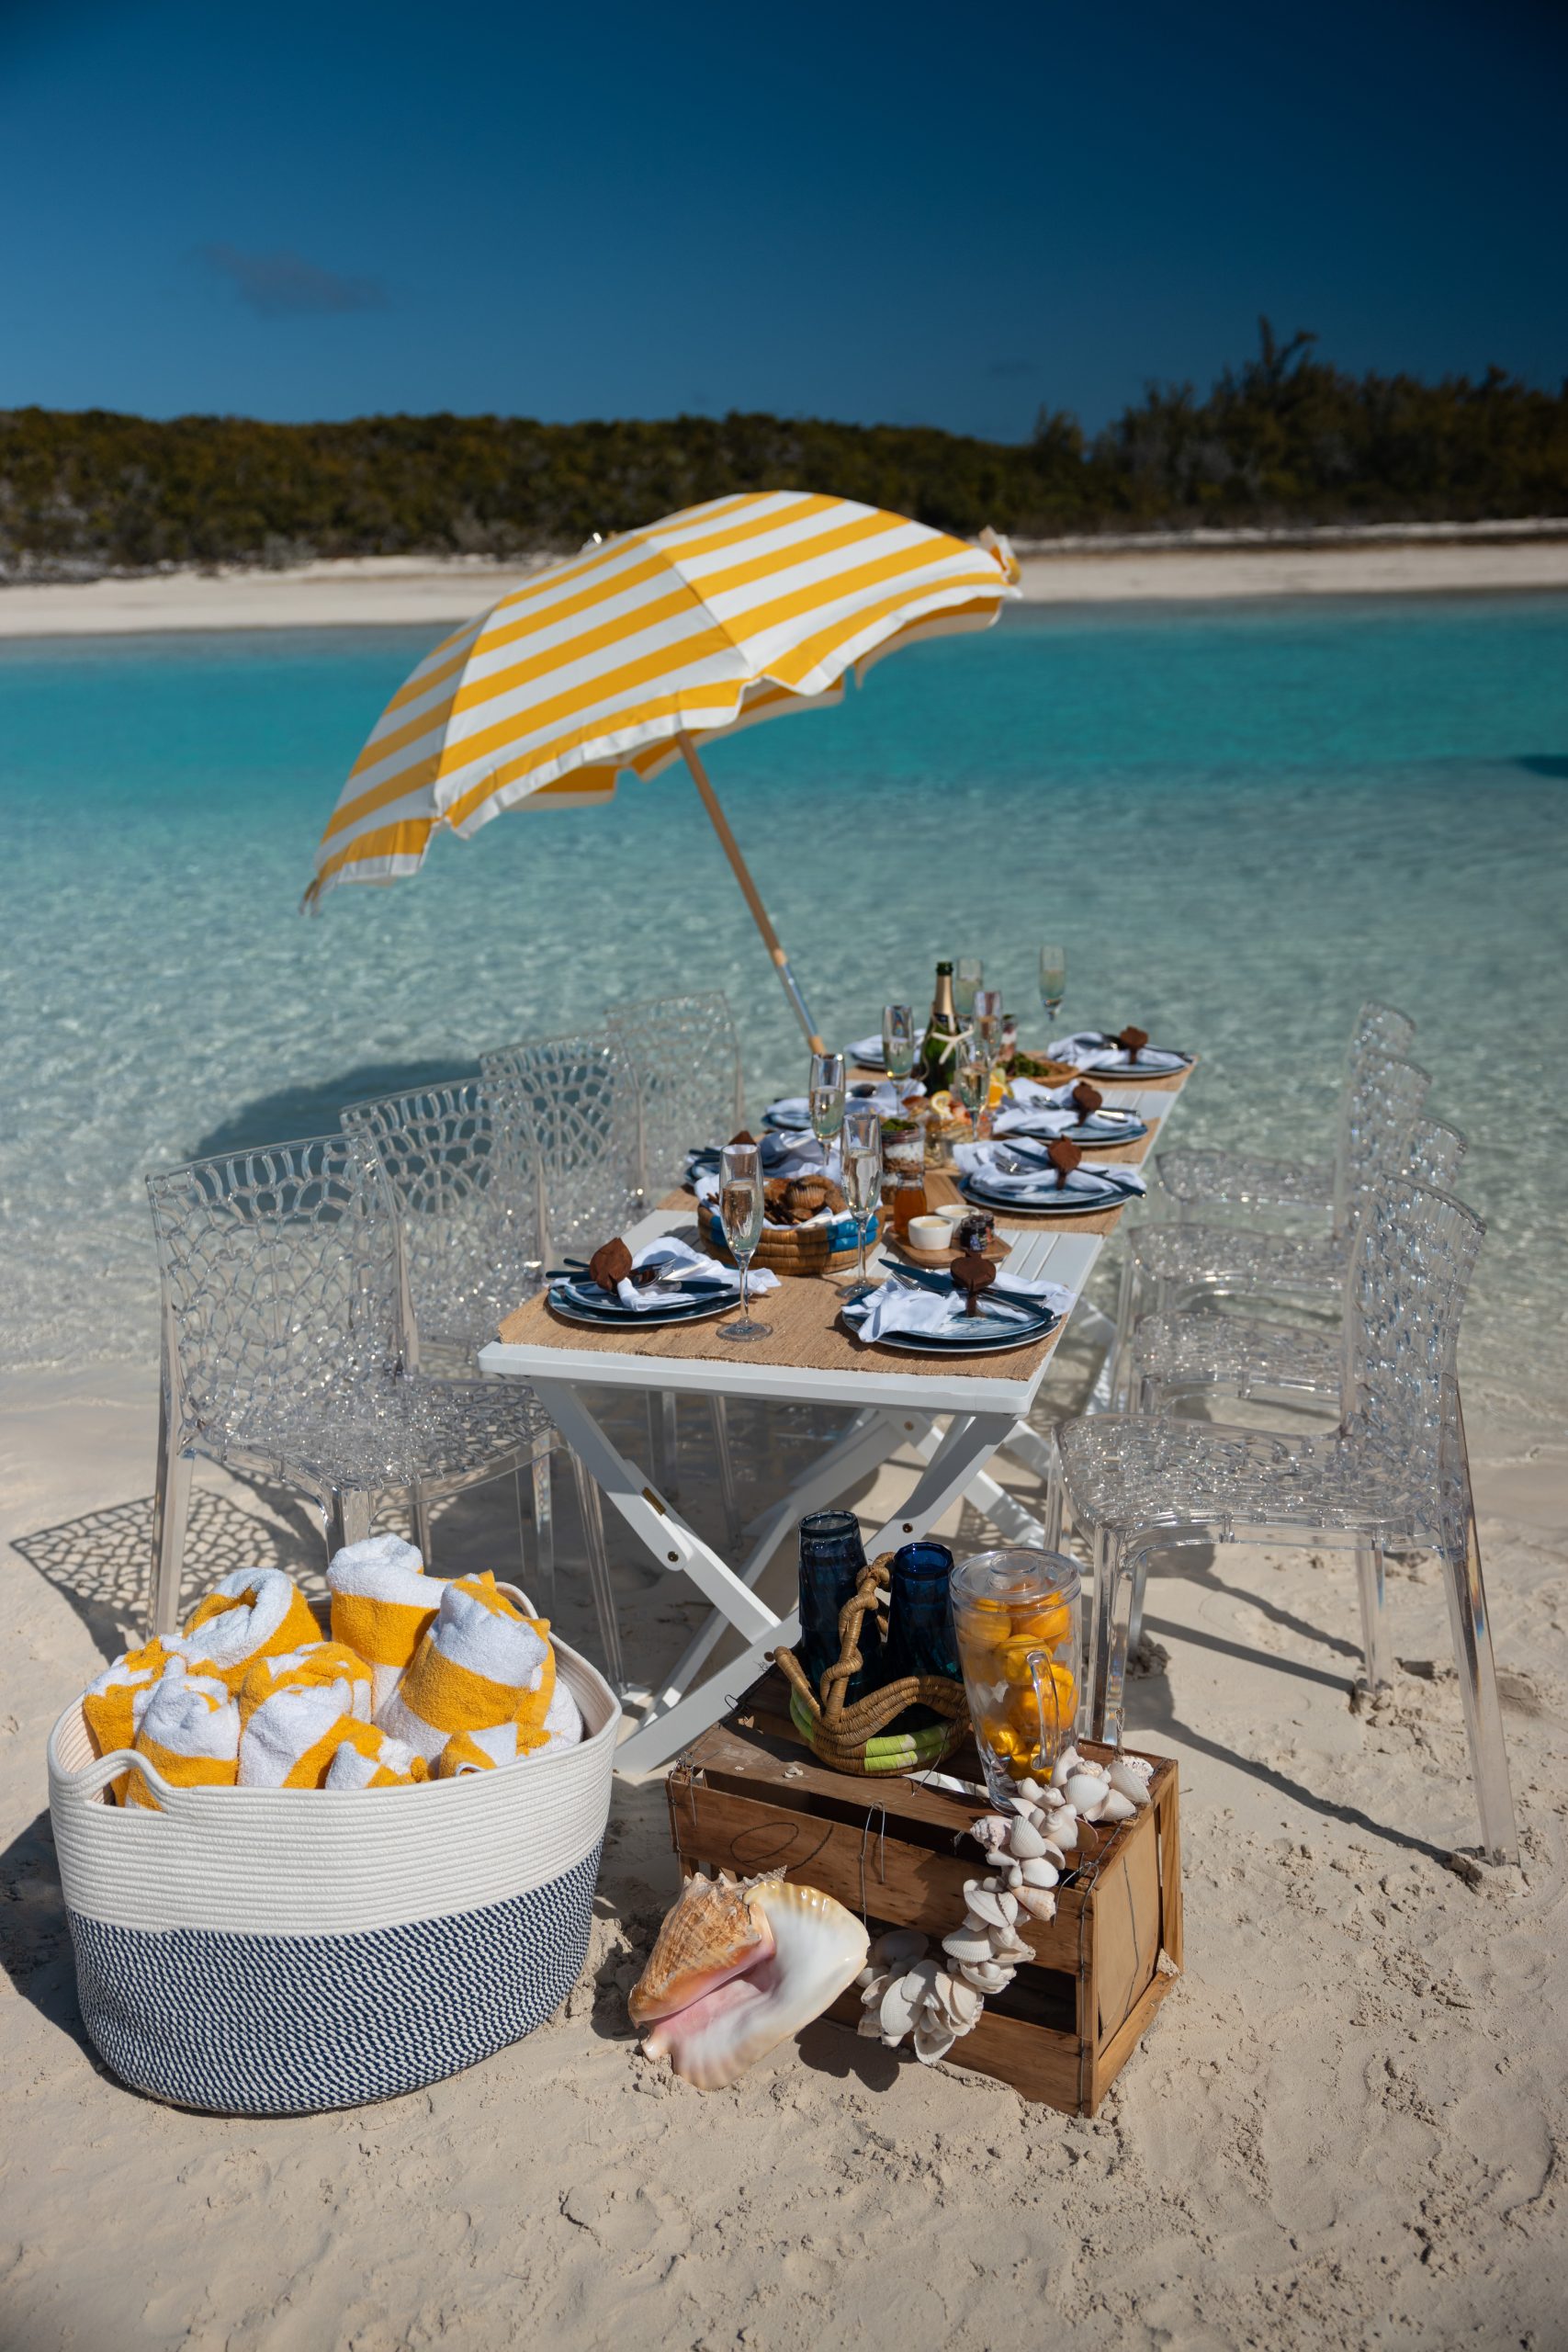
[[[1368,1190],[1399,1171],[1432,1075],[1392,1054],[1368,1054],[1340,1108],[1333,1160],[1333,1228],[1286,1235],[1248,1225],[1166,1221],[1126,1235],[1110,1390],[1126,1404],[1133,1327],[1143,1315],[1206,1291],[1288,1291],[1333,1298],[1345,1282],[1356,1214]]]

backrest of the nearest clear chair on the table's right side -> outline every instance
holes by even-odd
[[[1352,1254],[1345,1315],[1345,1430],[1436,1508],[1455,1352],[1486,1225],[1434,1185],[1373,1185]],[[1354,1399],[1354,1402],[1352,1402]]]

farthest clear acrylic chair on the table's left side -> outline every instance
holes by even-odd
[[[656,1207],[682,1183],[686,1152],[693,1143],[724,1143],[745,1124],[745,1080],[736,1021],[729,997],[719,990],[611,1004],[604,1021],[637,1073],[642,1174],[649,1207]],[[658,1418],[661,1477],[670,1484],[677,1451],[675,1395],[670,1390],[658,1397],[654,1414]],[[741,1501],[724,1397],[708,1397],[708,1421],[724,1519],[736,1536],[741,1531]]]

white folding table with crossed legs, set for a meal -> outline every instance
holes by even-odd
[[[1140,1089],[1138,1094],[1117,1089],[1117,1101],[1135,1103],[1152,1131],[1138,1145],[1124,1145],[1114,1157],[1145,1157],[1175,1091],[1180,1089]],[[1051,1221],[999,1225],[1011,1247],[1009,1270],[1027,1279],[1060,1282],[1077,1303],[1105,1247],[1105,1235],[1119,1216],[1121,1211],[1114,1209],[1072,1225]],[[656,1235],[689,1225],[691,1204],[668,1204],[644,1216],[625,1240],[635,1249]],[[816,1322],[823,1331],[832,1327],[837,1312],[832,1284],[785,1282],[783,1289],[811,1294],[809,1305]],[[766,1294],[757,1301],[757,1312],[766,1317],[771,1308],[778,1308],[778,1301],[780,1291]],[[795,1303],[797,1322],[802,1312],[804,1303]],[[896,1517],[867,1538],[867,1557],[924,1536],[959,1496],[969,1496],[978,1510],[992,1517],[1009,1541],[1039,1541],[1039,1524],[987,1475],[985,1465],[999,1446],[1009,1446],[1009,1451],[1023,1449],[1032,1468],[1048,1470],[1044,1439],[1027,1428],[1027,1416],[1067,1319],[1063,1315],[1063,1324],[1034,1348],[1009,1350],[999,1357],[966,1357],[959,1367],[936,1355],[900,1355],[889,1348],[856,1350],[842,1336],[830,1345],[820,1331],[806,1334],[806,1343],[797,1352],[802,1357],[832,1355],[835,1364],[792,1362],[785,1336],[762,1341],[757,1348],[731,1345],[717,1338],[712,1324],[686,1324],[675,1327],[675,1331],[665,1324],[661,1331],[628,1334],[621,1343],[621,1334],[595,1331],[590,1336],[559,1322],[543,1298],[508,1317],[508,1329],[524,1327],[527,1336],[494,1341],[484,1348],[480,1355],[484,1371],[531,1383],[555,1428],[649,1557],[665,1573],[686,1576],[712,1609],[708,1623],[654,1691],[639,1729],[621,1743],[616,1769],[654,1771],[670,1762],[701,1731],[719,1722],[733,1698],[762,1672],[771,1649],[795,1642],[797,1611],[778,1616],[755,1592],[766,1562],[795,1519],[837,1503],[886,1463],[898,1446],[912,1444],[924,1454],[924,1470]],[[651,1388],[675,1395],[752,1397],[773,1404],[846,1404],[856,1409],[856,1418],[837,1444],[820,1454],[809,1472],[748,1529],[750,1548],[743,1559],[731,1564],[614,1444],[585,1402],[585,1390],[595,1388]],[[729,1628],[741,1635],[743,1653],[698,1679],[703,1663]],[[618,1661],[611,1661],[611,1675],[618,1675]]]

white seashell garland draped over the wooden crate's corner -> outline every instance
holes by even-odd
[[[940,1959],[919,1929],[877,1936],[856,1978],[863,2004],[856,2030],[886,2049],[912,2042],[922,2065],[945,2058],[980,2023],[987,1994],[1001,1992],[1023,1962],[1034,1959],[1018,1929],[1056,1919],[1053,1889],[1079,1844],[1079,1823],[1131,1820],[1150,1804],[1152,1773],[1143,1757],[1091,1764],[1067,1748],[1048,1788],[1020,1780],[1011,1813],[980,1813],[969,1835],[992,1875],[964,1882],[964,1917],[943,1936]]]

